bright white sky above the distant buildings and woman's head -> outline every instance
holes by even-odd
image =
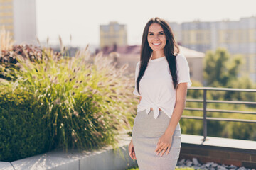
[[[60,35],[65,45],[99,45],[100,24],[117,21],[127,25],[128,44],[139,45],[154,16],[177,23],[239,20],[256,16],[255,6],[255,0],[36,0],[37,34],[50,44]]]

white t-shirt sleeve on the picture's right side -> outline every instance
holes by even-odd
[[[189,66],[186,57],[183,55],[177,55],[177,72],[178,72],[178,84],[188,83],[188,87],[191,86],[192,82],[189,74]]]

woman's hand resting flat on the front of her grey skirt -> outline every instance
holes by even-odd
[[[172,136],[169,134],[164,134],[159,138],[159,142],[156,145],[156,155],[159,155],[161,152],[161,157],[166,152],[166,155],[169,154],[171,149]],[[167,151],[166,151],[167,150]]]

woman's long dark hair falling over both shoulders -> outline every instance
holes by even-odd
[[[171,77],[172,77],[172,80],[174,83],[174,89],[176,89],[176,87],[178,85],[176,54],[174,54],[174,50],[176,51],[176,53],[178,53],[179,48],[178,48],[176,41],[174,40],[174,33],[172,32],[169,24],[164,19],[155,17],[155,18],[151,18],[146,23],[146,26],[144,28],[143,35],[142,35],[142,47],[141,47],[139,74],[138,74],[137,81],[136,81],[138,92],[139,92],[139,81],[141,81],[141,79],[144,75],[144,72],[145,72],[148,62],[149,62],[149,59],[153,52],[151,47],[149,47],[149,42],[147,40],[147,36],[149,34],[149,26],[151,26],[152,23],[159,23],[161,28],[163,28],[163,30],[164,30],[164,34],[166,36],[166,45],[164,47],[164,55],[169,64]]]

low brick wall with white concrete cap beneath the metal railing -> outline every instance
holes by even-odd
[[[202,163],[256,167],[256,141],[208,137],[203,142],[202,139],[203,136],[182,135],[179,159],[196,157]]]

